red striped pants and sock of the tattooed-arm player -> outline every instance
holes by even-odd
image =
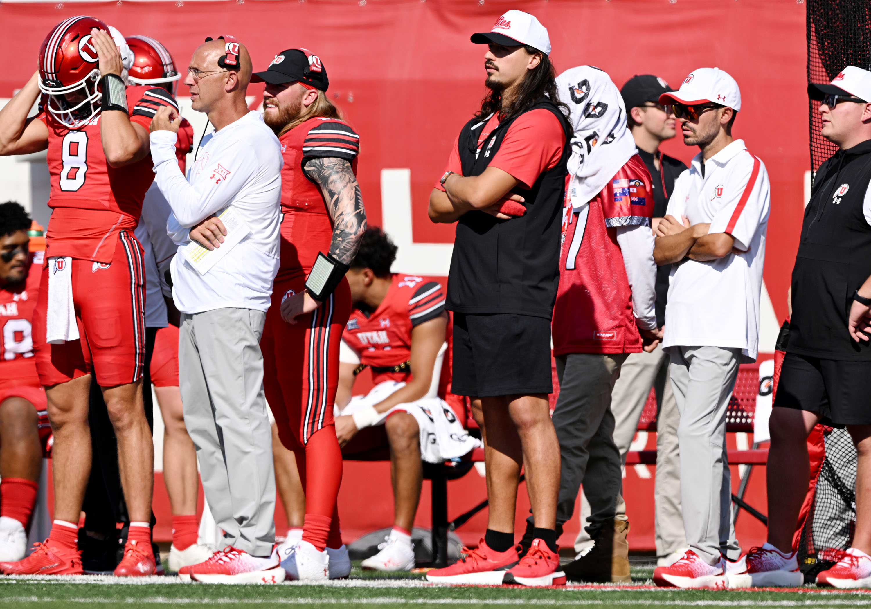
[[[327,533],[338,537],[336,497],[341,485],[341,450],[333,406],[339,386],[339,344],[351,315],[351,290],[342,280],[314,312],[295,324],[281,319],[281,299],[299,293],[305,277],[276,281],[260,339],[263,387],[281,443],[294,451],[306,492],[303,539],[323,549]]]

